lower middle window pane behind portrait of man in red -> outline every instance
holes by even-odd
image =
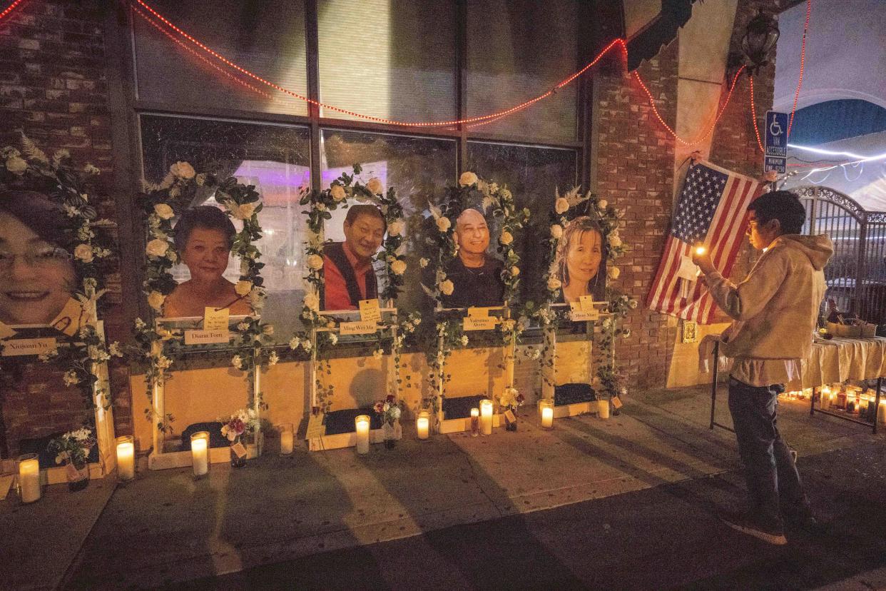
[[[418,259],[426,247],[420,232],[428,203],[442,197],[441,189],[446,183],[455,182],[455,141],[324,129],[322,148],[323,188],[329,187],[342,172],[350,173],[354,163],[360,163],[361,181],[376,177],[385,191],[389,187],[397,191],[407,216],[410,255],[405,291],[397,305],[408,310],[430,309],[431,299],[420,286],[423,277]],[[344,239],[345,214],[343,210],[332,213],[332,219],[326,223],[327,239]]]

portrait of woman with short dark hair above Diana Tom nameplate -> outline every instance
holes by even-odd
[[[222,275],[228,268],[237,229],[221,209],[197,206],[185,210],[175,224],[175,249],[190,271],[166,299],[167,317],[202,316],[206,307],[229,308],[231,315],[252,311],[249,300],[238,296],[234,284]]]

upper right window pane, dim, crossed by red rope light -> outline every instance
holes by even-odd
[[[518,105],[578,69],[579,0],[468,0],[468,115]],[[478,134],[576,138],[576,82]]]

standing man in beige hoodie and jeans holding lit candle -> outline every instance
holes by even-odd
[[[777,396],[799,377],[826,289],[823,268],[834,253],[830,238],[800,236],[806,212],[789,191],[773,191],[750,206],[750,244],[763,251],[740,284],[721,276],[708,254],[693,261],[711,296],[734,323],[721,351],[734,359],[729,411],[750,495],[750,513],[727,525],[772,544],[785,544],[784,519],[814,519],[797,466],[776,425]]]

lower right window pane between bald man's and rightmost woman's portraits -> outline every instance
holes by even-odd
[[[574,150],[533,148],[512,144],[468,143],[468,167],[489,182],[507,186],[517,206],[532,212],[529,228],[515,237],[520,254],[523,280],[520,297],[538,301],[544,296],[541,241],[548,237],[548,212],[554,206],[554,193],[570,189],[577,181]]]

